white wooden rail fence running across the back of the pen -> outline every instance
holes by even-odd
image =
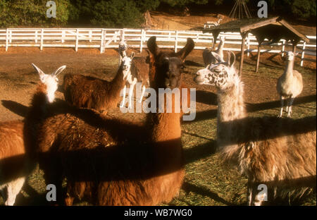
[[[128,41],[132,48],[138,48],[142,51],[147,47],[147,39],[156,36],[159,47],[172,48],[177,51],[183,47],[187,37],[192,37],[195,42],[195,49],[205,49],[213,44],[211,33],[202,33],[201,31],[189,30],[144,30],[144,29],[103,29],[103,28],[7,28],[0,29],[0,47],[73,47],[75,51],[78,48],[99,48],[101,53],[106,48],[117,48],[119,37],[121,35]],[[241,36],[239,32],[220,32],[225,36],[224,50],[240,51]],[[219,37],[220,37],[219,35]],[[307,59],[304,56],[316,56],[316,36],[306,36],[311,42],[299,42],[297,50],[301,53],[301,66],[304,61],[314,61],[316,59]],[[218,43],[219,38],[216,43]],[[249,34],[246,40],[247,56],[250,52],[257,52],[256,38]],[[290,50],[290,44],[284,39],[275,44],[263,42],[261,52],[281,53]]]

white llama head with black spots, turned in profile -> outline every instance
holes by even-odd
[[[204,69],[197,71],[194,81],[202,85],[215,85],[220,90],[224,90],[237,80],[238,75],[235,71],[233,64],[235,63],[235,54],[228,52],[228,61],[223,62],[223,59],[215,52],[216,64],[210,64]]]

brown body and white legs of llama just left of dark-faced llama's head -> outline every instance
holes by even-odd
[[[149,51],[147,51],[149,54]],[[149,55],[150,56],[150,55]],[[130,85],[129,95],[128,95],[128,108],[132,107],[132,92],[137,82],[141,82],[142,84],[142,94],[139,98],[139,102],[142,102],[144,97],[146,87],[149,87],[149,56],[135,56],[131,63],[130,72],[131,74],[127,78],[127,83],[123,88],[123,101],[120,106],[125,106],[125,91],[127,85]]]

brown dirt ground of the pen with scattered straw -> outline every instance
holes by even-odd
[[[193,51],[185,61],[187,68],[183,82],[197,90],[197,116],[194,121],[182,124],[186,177],[180,196],[170,204],[246,204],[246,179],[237,171],[223,169],[213,152],[216,138],[216,89],[208,85],[196,85],[193,81],[194,73],[203,68],[201,54],[202,51]],[[145,56],[146,52],[142,55]],[[239,58],[238,54],[237,57]],[[6,52],[4,48],[0,48],[0,121],[11,121],[25,116],[32,93],[39,82],[31,63],[35,63],[45,73],[51,73],[59,66],[66,65],[66,70],[58,76],[59,85],[62,84],[65,73],[111,80],[118,67],[118,53],[114,49],[106,49],[104,54],[100,54],[98,49],[79,49],[75,52],[73,49],[58,48],[43,51],[37,48],[10,48]],[[256,54],[245,56],[242,80],[245,83],[245,102],[249,115],[277,116],[280,102],[275,87],[285,61],[278,54],[263,54],[259,73],[254,73],[255,63]],[[238,64],[239,61],[235,66],[238,67]],[[304,90],[294,101],[293,117],[316,116],[316,63],[307,61],[304,67],[300,67],[297,59],[294,68],[303,75]],[[56,92],[56,95],[63,99],[61,92]],[[145,115],[122,114],[119,109],[108,114],[132,121],[142,121]],[[27,187],[37,191],[37,195],[45,192],[41,175],[41,171],[37,170],[28,181]],[[24,188],[17,204],[38,204],[27,200],[31,194]],[[316,205],[316,197],[302,204]]]

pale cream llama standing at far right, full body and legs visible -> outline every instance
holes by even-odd
[[[285,71],[280,76],[280,78],[278,78],[276,89],[278,90],[278,94],[280,95],[281,105],[279,117],[282,117],[283,114],[284,99],[286,99],[287,102],[287,117],[291,116],[294,98],[301,94],[303,90],[302,74],[298,71],[293,70],[294,59],[297,54],[298,53],[287,51],[287,63]]]

